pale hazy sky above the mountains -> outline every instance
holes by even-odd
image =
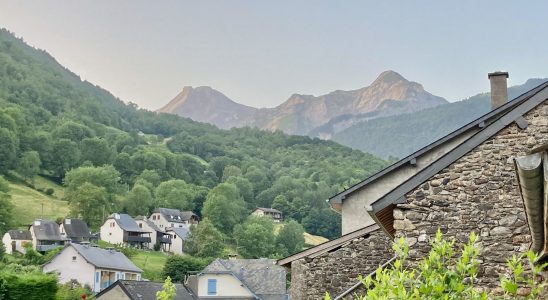
[[[272,107],[367,86],[387,69],[460,100],[548,77],[546,1],[0,0],[0,26],[124,101],[185,85]]]

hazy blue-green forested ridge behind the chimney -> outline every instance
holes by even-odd
[[[529,79],[522,85],[512,86],[508,88],[508,98],[514,99],[547,80]],[[490,109],[490,94],[481,93],[414,113],[357,123],[334,133],[332,140],[379,157],[403,158],[479,118]],[[324,127],[325,134],[329,128]],[[317,130],[316,134],[320,132]]]

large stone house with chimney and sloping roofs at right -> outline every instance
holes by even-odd
[[[536,208],[542,197],[539,180],[546,180],[540,170],[548,144],[548,83],[508,101],[508,73],[488,77],[492,111],[329,199],[341,213],[343,237],[377,226],[375,232],[388,241],[405,237],[409,259],[420,260],[438,228],[460,242],[474,231],[482,245],[478,285],[488,289],[498,288],[506,260],[527,251],[532,235],[532,249],[544,247],[540,228],[546,223],[538,215],[543,210]],[[349,266],[390,261],[360,256],[375,249],[371,238],[377,236],[364,235],[315,257],[280,260],[291,268],[292,299],[318,299],[326,290],[335,299],[351,295],[361,286],[349,278],[374,267]],[[386,251],[391,251],[388,245]]]

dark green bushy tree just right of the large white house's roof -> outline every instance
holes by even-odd
[[[202,271],[210,261],[190,255],[171,255],[166,260],[162,275],[171,277],[174,282],[184,282],[188,273]]]

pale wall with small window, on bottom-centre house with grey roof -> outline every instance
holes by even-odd
[[[213,297],[207,294],[207,280],[217,279],[216,297],[252,297],[252,293],[231,274],[202,274],[198,278],[198,297]]]

